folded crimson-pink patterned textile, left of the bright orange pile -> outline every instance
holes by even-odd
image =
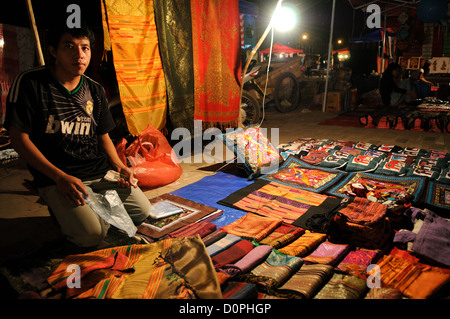
[[[356,248],[348,252],[336,268],[353,276],[365,278],[367,267],[376,263],[381,256],[380,250]]]

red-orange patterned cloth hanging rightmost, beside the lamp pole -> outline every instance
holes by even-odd
[[[191,0],[194,119],[237,127],[240,105],[238,0]]]

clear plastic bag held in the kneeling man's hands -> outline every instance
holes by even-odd
[[[125,231],[129,237],[137,232],[137,227],[128,215],[119,194],[115,190],[107,190],[104,195],[88,191],[86,203],[107,223]]]

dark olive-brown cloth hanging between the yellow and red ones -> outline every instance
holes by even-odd
[[[172,128],[194,131],[194,69],[190,0],[154,1]]]

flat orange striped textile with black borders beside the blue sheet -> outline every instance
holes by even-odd
[[[327,195],[276,182],[257,180],[255,183],[219,201],[219,203],[267,217],[282,219],[286,223],[292,224],[310,207],[322,204],[327,197]]]

